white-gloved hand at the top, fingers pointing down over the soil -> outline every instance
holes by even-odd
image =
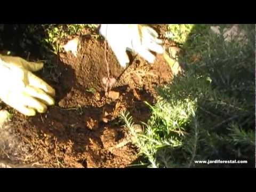
[[[162,40],[158,39],[156,31],[145,25],[138,24],[102,24],[100,34],[105,37],[115,53],[119,64],[123,67],[129,63],[126,50],[138,53],[149,63],[155,56],[150,51],[162,54]]]

